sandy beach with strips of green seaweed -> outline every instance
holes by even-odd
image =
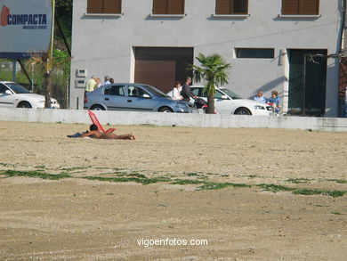
[[[345,260],[347,134],[0,122],[1,260]]]

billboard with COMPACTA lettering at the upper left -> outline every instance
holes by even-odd
[[[0,0],[0,58],[50,52],[53,4],[53,0]]]

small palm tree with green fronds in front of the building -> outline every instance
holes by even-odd
[[[196,59],[200,62],[198,65],[191,65],[190,70],[193,73],[193,78],[199,83],[205,81],[206,85],[204,92],[207,93],[207,110],[206,113],[214,113],[214,94],[215,88],[228,83],[227,69],[230,69],[230,63],[225,63],[222,56],[212,54],[205,56],[202,53],[198,54]]]

